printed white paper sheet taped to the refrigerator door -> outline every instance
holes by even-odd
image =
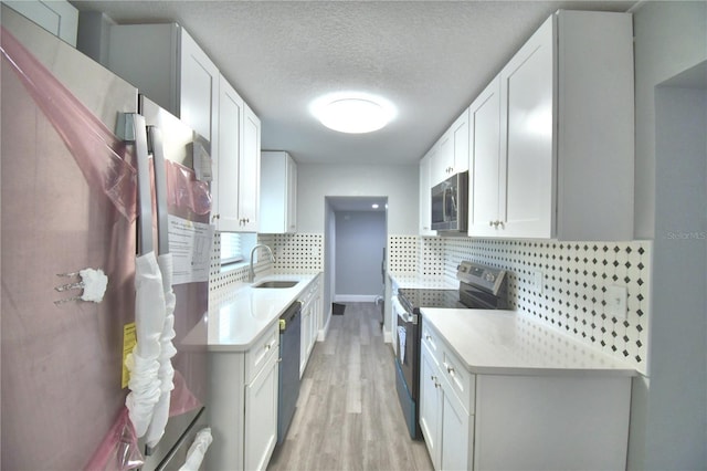
[[[172,284],[209,281],[213,228],[169,214],[169,252],[173,259]]]

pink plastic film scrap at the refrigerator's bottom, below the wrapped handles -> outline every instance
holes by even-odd
[[[137,443],[135,428],[123,408],[96,453],[86,464],[87,471],[127,471],[145,464]]]

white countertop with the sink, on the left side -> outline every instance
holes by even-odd
[[[242,283],[209,301],[209,315],[184,338],[198,343],[207,338],[210,352],[244,352],[299,299],[317,274],[267,275]],[[292,287],[262,289],[253,285],[270,280],[296,281]],[[207,331],[204,335],[204,329]]]

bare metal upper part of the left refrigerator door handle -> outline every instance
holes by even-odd
[[[145,117],[137,113],[123,113],[118,119],[116,135],[127,143],[135,143],[137,159],[138,200],[138,254],[155,250],[152,242],[152,197],[150,189],[149,157]]]

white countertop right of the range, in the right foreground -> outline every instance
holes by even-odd
[[[513,311],[422,308],[475,374],[634,376],[631,365]]]

